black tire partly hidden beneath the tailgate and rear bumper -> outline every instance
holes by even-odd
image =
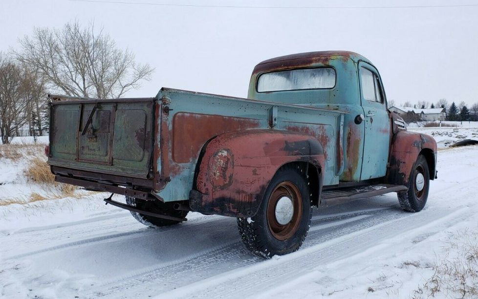
[[[131,197],[131,196],[125,196],[126,197],[126,203],[130,206],[133,207],[139,207],[140,209],[145,209],[145,205],[148,206],[148,211],[151,212],[158,212],[162,214],[167,214],[170,216],[174,217],[186,217],[188,214],[188,211],[179,211],[179,210],[174,210],[173,209],[173,203],[161,203],[161,202],[142,202],[138,201],[136,198]],[[138,220],[139,222],[143,223],[144,225],[147,225],[149,227],[157,228],[157,227],[162,227],[162,226],[170,226],[174,224],[181,223],[182,221],[175,221],[175,220],[170,220],[170,219],[164,219],[164,218],[157,218],[153,216],[148,216],[144,214],[140,214],[137,212],[132,212],[130,211],[131,215],[133,215],[134,219]]]

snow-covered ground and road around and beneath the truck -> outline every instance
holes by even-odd
[[[439,151],[422,212],[395,193],[316,209],[302,248],[270,260],[245,249],[234,218],[150,229],[106,193],[28,202],[50,193],[23,177],[27,161],[0,157],[3,298],[478,298],[478,146]]]

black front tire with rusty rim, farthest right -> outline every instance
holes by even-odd
[[[417,188],[417,177],[419,181],[421,179],[419,174],[421,174],[424,180],[424,185],[421,190]],[[430,171],[428,169],[427,159],[425,159],[423,155],[419,155],[416,158],[412,173],[410,174],[408,191],[397,192],[400,207],[408,212],[420,212],[427,203],[429,189]]]

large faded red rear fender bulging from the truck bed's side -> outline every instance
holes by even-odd
[[[322,145],[313,136],[281,130],[221,134],[203,149],[190,207],[204,214],[251,217],[276,171],[291,162],[322,170]]]

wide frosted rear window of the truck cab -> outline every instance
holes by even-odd
[[[257,82],[257,91],[322,89],[334,86],[335,70],[333,68],[301,68],[262,74]]]

